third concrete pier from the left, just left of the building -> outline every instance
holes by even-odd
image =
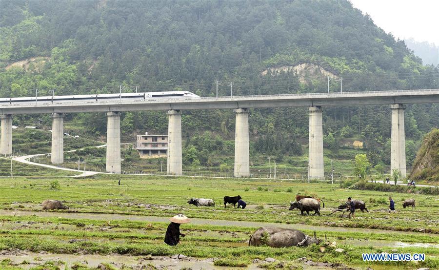
[[[107,160],[105,171],[120,173],[120,112],[107,112]]]

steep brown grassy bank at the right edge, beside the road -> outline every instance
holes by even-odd
[[[439,182],[439,129],[425,136],[409,179]]]

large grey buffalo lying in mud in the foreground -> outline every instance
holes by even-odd
[[[250,237],[248,246],[269,246],[273,248],[308,247],[320,242],[321,240],[316,237],[316,232],[314,232],[314,237],[311,237],[296,229],[261,227]]]

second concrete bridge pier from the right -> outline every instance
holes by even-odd
[[[308,108],[309,112],[309,179],[323,179],[323,123],[320,106]]]

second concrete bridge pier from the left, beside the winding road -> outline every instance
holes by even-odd
[[[52,154],[51,161],[58,165],[64,162],[64,114],[52,114]]]

